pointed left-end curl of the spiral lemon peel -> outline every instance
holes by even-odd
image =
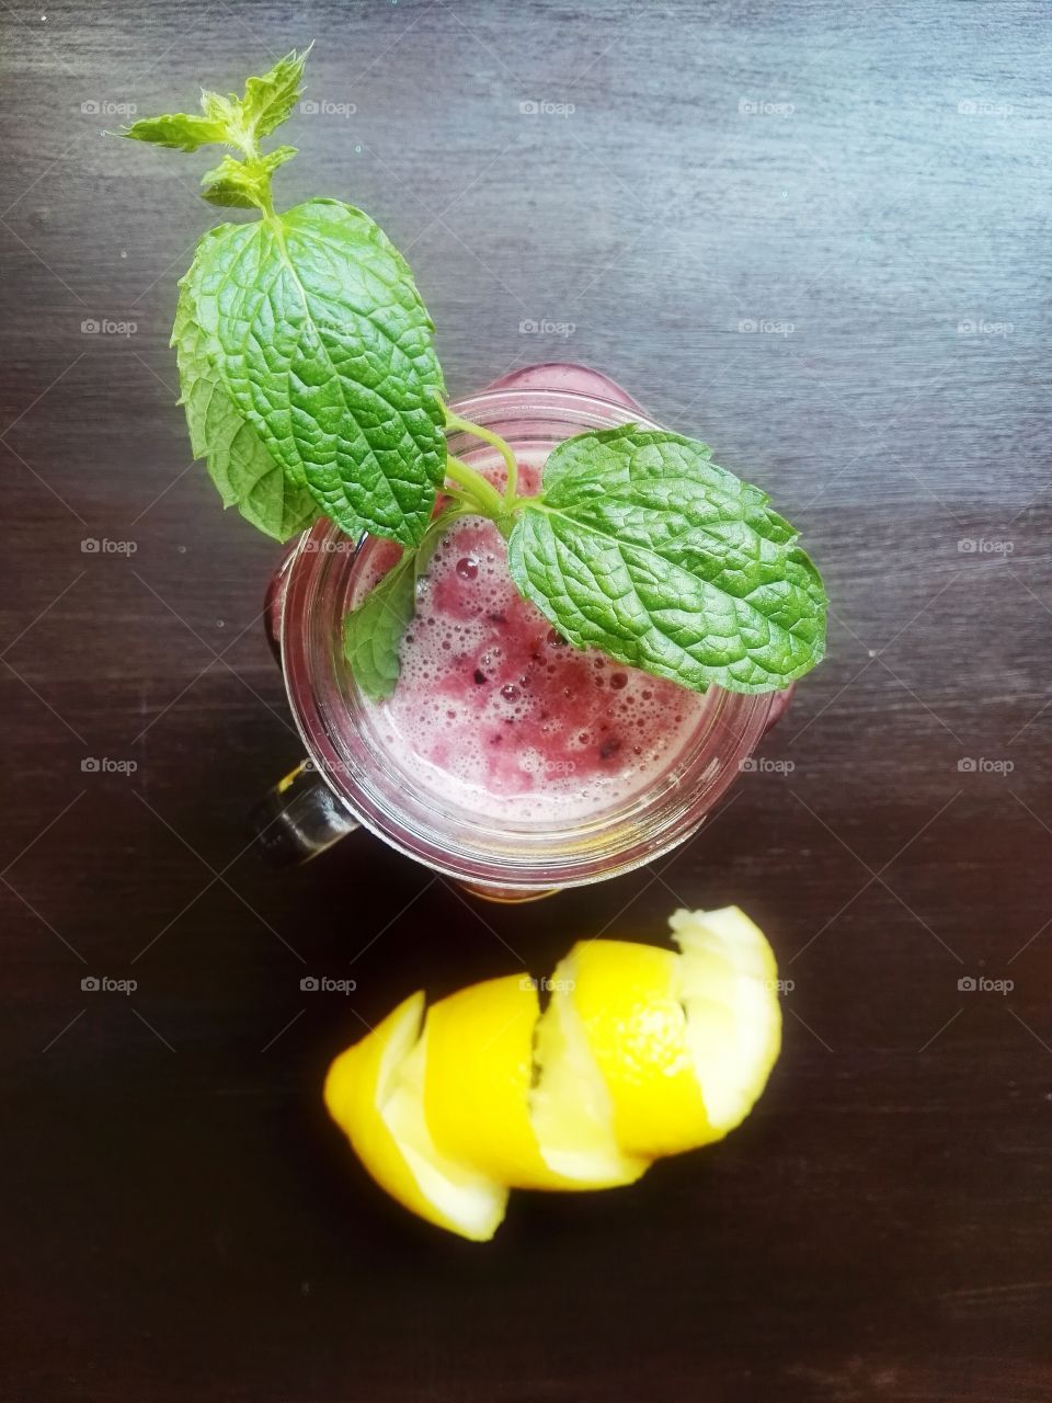
[[[325,1106],[393,1198],[439,1228],[487,1242],[504,1219],[508,1190],[442,1155],[431,1136],[422,1014],[424,993],[414,993],[342,1052],[325,1079]]]

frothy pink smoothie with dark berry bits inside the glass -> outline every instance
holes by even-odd
[[[397,557],[386,542],[365,547],[355,603]],[[713,704],[571,648],[522,599],[499,532],[480,518],[439,543],[400,657],[394,694],[363,702],[373,734],[415,786],[495,819],[582,819],[631,804]]]

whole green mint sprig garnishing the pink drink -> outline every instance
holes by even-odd
[[[224,506],[278,540],[327,516],[403,547],[345,620],[362,690],[390,696],[419,581],[466,515],[508,543],[519,593],[571,644],[704,692],[771,692],[825,650],[826,596],[797,532],[704,443],[637,425],[560,443],[519,495],[515,453],[445,404],[433,323],[412,272],[360,209],[310,199],[278,212],[271,181],[296,154],[262,150],[295,111],[306,49],[238,97],[146,118],[122,136],[226,147],[202,178],[213,205],[255,212],[198,243],[173,331],[191,446]],[[446,449],[495,449],[497,487]]]

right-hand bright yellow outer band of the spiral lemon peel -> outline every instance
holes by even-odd
[[[626,940],[582,941],[564,961],[628,1155],[677,1155],[718,1139],[694,1072],[680,962],[672,950]]]

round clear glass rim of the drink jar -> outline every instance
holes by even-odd
[[[634,405],[574,390],[483,390],[450,408],[483,427],[499,427],[513,445],[551,441],[553,424],[578,431],[661,427]],[[492,452],[470,435],[450,434],[447,441],[468,462]],[[348,727],[339,725],[348,714],[345,669],[337,661],[341,609],[359,546],[348,549],[348,537],[323,518],[288,561],[281,648],[289,704],[313,765],[355,819],[435,871],[518,891],[585,885],[631,871],[699,828],[766,728],[773,694],[713,689],[710,724],[686,758],[620,810],[550,831],[445,812],[438,801],[410,793],[393,767],[377,763],[360,730],[351,728],[349,741]]]

